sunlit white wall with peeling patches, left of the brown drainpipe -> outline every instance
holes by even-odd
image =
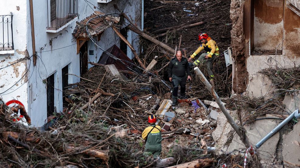
[[[25,106],[26,110],[28,109],[26,83],[28,73],[26,74],[26,67],[27,65],[29,66],[27,64],[29,61],[20,60],[29,56],[26,52],[26,39],[29,35],[28,30],[30,30],[28,24],[26,24],[26,21],[29,19],[29,15],[27,15],[28,11],[28,5],[23,0],[3,1],[0,5],[0,15],[10,15],[10,12],[13,14],[12,29],[14,40],[14,54],[0,54],[0,97],[4,102],[14,99],[19,100]],[[2,30],[1,24],[0,31]],[[1,33],[0,38],[2,37]],[[12,88],[9,89],[10,87]]]

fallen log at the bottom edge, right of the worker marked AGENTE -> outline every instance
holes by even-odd
[[[213,167],[212,166],[213,162],[215,162],[214,159],[205,158],[205,159],[194,160],[187,163],[182,163],[176,166],[170,166],[168,168],[194,168],[194,167],[206,167],[206,166]]]

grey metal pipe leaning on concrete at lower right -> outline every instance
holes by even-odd
[[[291,115],[289,115],[286,119],[284,119],[277,127],[275,127],[270,133],[268,133],[262,140],[260,140],[256,144],[256,148],[258,149],[264,142],[266,142],[270,137],[272,137],[277,131],[279,131],[285,124],[293,119],[294,117],[299,118],[300,114],[298,114],[299,109],[295,110]]]

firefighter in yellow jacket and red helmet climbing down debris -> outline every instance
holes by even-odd
[[[206,59],[206,69],[209,74],[210,80],[212,80],[215,76],[210,69],[212,67],[213,61],[216,60],[219,55],[219,48],[216,44],[216,41],[213,41],[206,33],[200,33],[198,35],[198,40],[202,42],[200,47],[188,58],[188,61],[191,61],[199,52],[205,50],[206,53],[203,53],[199,56],[199,58],[193,62],[194,66],[197,66],[199,63],[202,63],[204,59]]]

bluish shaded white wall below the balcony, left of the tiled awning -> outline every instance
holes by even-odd
[[[95,0],[94,2],[97,1]],[[45,1],[33,0],[33,9],[36,51],[39,57],[37,58],[36,67],[30,68],[30,71],[33,72],[33,77],[30,78],[30,87],[28,87],[29,111],[33,125],[40,126],[44,124],[47,118],[47,88],[43,80],[54,74],[54,108],[57,112],[62,111],[62,68],[69,65],[68,73],[80,76],[80,59],[79,54],[77,54],[76,40],[72,35],[76,25],[75,21],[86,18],[93,11],[87,6],[85,1],[79,0],[79,17],[61,31],[49,33],[46,32],[48,26],[47,3]],[[50,40],[52,40],[52,46],[50,45]],[[31,39],[27,43],[31,43]],[[68,83],[80,81],[74,75],[68,75]]]

